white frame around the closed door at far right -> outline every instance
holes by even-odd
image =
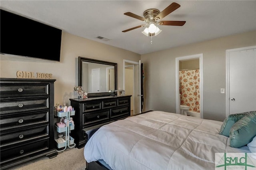
[[[232,51],[242,51],[247,49],[255,49],[256,45],[249,46],[249,47],[242,47],[242,48],[234,48],[234,49],[227,49],[226,50],[226,117],[229,115],[229,61],[230,61],[230,52]]]

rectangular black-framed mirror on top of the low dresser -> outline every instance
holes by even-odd
[[[117,63],[78,57],[78,86],[88,97],[114,95]]]

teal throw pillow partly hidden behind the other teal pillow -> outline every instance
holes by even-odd
[[[223,121],[219,134],[222,134],[224,136],[229,137],[230,128],[240,119],[242,119],[245,115],[248,115],[251,112],[245,112],[245,113],[237,113],[234,115],[228,115],[228,117]]]

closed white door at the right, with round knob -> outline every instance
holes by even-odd
[[[227,50],[227,115],[256,111],[256,48]]]

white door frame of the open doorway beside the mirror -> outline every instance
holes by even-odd
[[[126,60],[126,59],[124,59],[124,61],[123,61],[123,89],[124,89],[124,91],[125,91],[125,63],[129,63],[129,64],[133,64],[133,65],[138,65],[139,67],[140,67],[140,63],[139,62],[136,62],[136,61],[130,61],[130,60]],[[130,66],[130,65],[129,65]],[[134,68],[134,67],[133,67]],[[135,111],[135,71],[134,71],[134,69],[133,69],[133,73],[134,73],[134,81],[133,81],[133,103],[134,103],[134,105],[133,105],[133,112]],[[140,73],[139,73],[140,74]],[[139,77],[140,78],[140,77]],[[140,91],[139,91],[139,93],[140,93]],[[138,106],[138,107],[140,107],[140,106]]]

